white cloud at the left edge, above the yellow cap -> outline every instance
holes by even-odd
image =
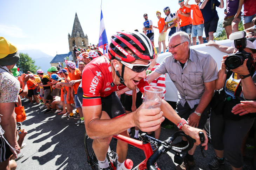
[[[27,35],[22,31],[21,28],[16,25],[2,25],[0,24],[1,34],[15,37],[15,38],[25,38]]]

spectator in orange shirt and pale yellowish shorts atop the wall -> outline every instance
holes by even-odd
[[[166,49],[165,39],[166,39],[167,31],[164,31],[166,29],[166,24],[165,24],[164,18],[161,17],[161,12],[157,11],[156,16],[159,19],[159,21],[157,22],[158,27],[153,26],[153,28],[159,29],[158,50],[159,50],[159,54],[160,54],[161,53],[161,43],[163,44],[163,52],[166,51],[165,50]]]

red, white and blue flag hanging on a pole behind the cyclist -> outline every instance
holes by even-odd
[[[100,9],[101,9],[101,8],[100,8]],[[100,38],[99,38],[99,48],[103,49],[103,54],[107,53],[107,49],[108,49],[108,39],[107,39],[106,30],[105,30],[105,25],[104,25],[102,10],[101,10],[101,15],[100,15]]]

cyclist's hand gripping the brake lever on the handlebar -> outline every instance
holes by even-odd
[[[188,125],[187,125],[188,126]],[[186,127],[187,127],[186,126]],[[183,128],[182,128],[183,130]],[[197,128],[194,128],[194,127],[191,127],[191,126],[188,126],[188,128],[185,130],[183,130],[187,135],[189,135],[191,138],[195,139],[196,140],[196,145],[200,145],[201,144],[201,141],[200,141],[200,136],[199,136],[199,132],[203,132],[204,134],[204,142],[202,143],[202,146],[205,146],[204,147],[204,150],[207,150],[207,143],[208,143],[208,137],[206,135],[206,131],[204,130],[201,130],[201,129],[197,129]]]

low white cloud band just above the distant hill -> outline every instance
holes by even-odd
[[[15,44],[15,45],[19,50],[38,49],[53,57],[56,56],[56,52],[58,52],[58,54],[68,53],[68,45],[66,43],[62,43],[62,44],[39,43],[39,44]]]

